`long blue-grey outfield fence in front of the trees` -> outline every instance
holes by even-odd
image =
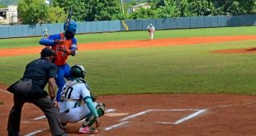
[[[192,29],[230,26],[256,26],[256,15],[241,16],[192,16],[164,19],[124,20],[124,21],[85,21],[78,22],[78,34],[102,33],[126,30],[146,30],[152,23],[156,30]],[[0,26],[0,38],[40,36],[43,29],[49,34],[64,31],[63,23]]]

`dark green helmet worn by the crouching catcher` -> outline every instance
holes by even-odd
[[[84,78],[86,71],[85,71],[85,68],[84,68],[82,65],[75,64],[75,65],[73,65],[73,66],[70,68],[69,73],[70,73],[70,77],[71,77],[72,79],[74,79],[74,78],[80,78],[80,77]]]

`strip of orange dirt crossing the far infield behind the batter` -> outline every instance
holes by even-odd
[[[194,45],[207,44],[225,41],[238,40],[256,40],[256,35],[238,35],[238,36],[215,36],[215,37],[187,37],[173,39],[158,39],[158,40],[127,40],[127,41],[112,41],[104,43],[88,43],[78,44],[78,50],[92,49],[119,49],[119,48],[141,48],[154,46],[172,46],[172,45]],[[15,49],[0,49],[0,57],[26,54],[39,54],[43,46],[36,45],[34,47],[15,48]]]

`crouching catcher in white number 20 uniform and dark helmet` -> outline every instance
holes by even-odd
[[[60,122],[65,126],[68,123],[76,123],[84,120],[79,129],[80,134],[95,133],[92,127],[99,127],[99,118],[104,115],[105,105],[97,103],[96,97],[89,91],[85,82],[85,69],[81,65],[74,65],[70,69],[71,80],[66,82],[61,91],[59,100]]]

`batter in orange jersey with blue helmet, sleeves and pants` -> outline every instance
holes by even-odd
[[[64,23],[64,29],[66,29],[66,23]],[[51,46],[55,50],[54,63],[59,67],[59,71],[56,77],[56,84],[58,91],[56,100],[59,101],[60,91],[64,87],[65,79],[69,79],[69,64],[66,62],[69,55],[74,56],[77,54],[78,46],[77,40],[74,35],[77,30],[77,23],[70,21],[67,27],[66,33],[60,33],[56,35],[50,35],[47,38],[40,40],[40,45]]]

